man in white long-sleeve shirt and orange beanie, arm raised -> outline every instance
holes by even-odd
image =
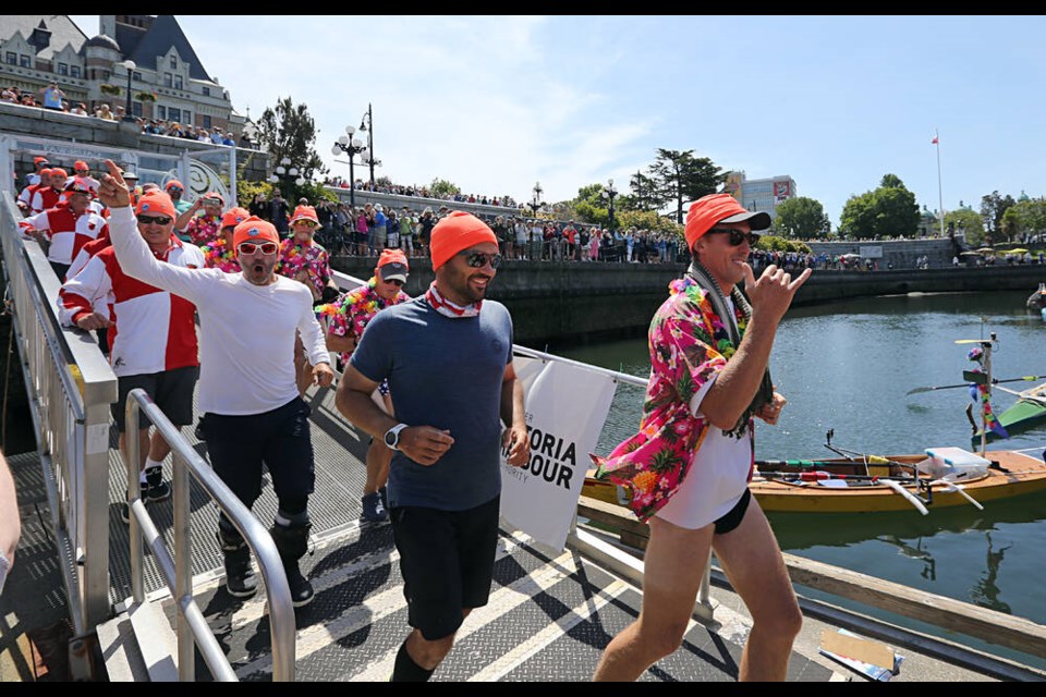
[[[313,492],[309,406],[294,379],[294,335],[302,337],[313,377],[333,378],[308,289],[273,273],[279,256],[276,228],[252,217],[235,228],[240,273],[182,269],[157,262],[137,234],[120,169],[106,160],[99,198],[111,209],[109,233],[123,270],[177,293],[199,314],[199,408],[215,473],[250,509],[262,494],[262,464],[279,500],[271,528],[295,607],[313,599],[297,561],[308,542],[308,496]],[[218,519],[226,588],[236,597],[257,590],[251,552],[232,523]]]

